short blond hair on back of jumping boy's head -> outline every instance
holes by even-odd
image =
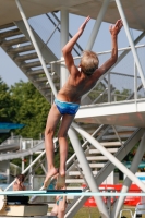
[[[84,74],[92,75],[94,71],[98,68],[99,60],[95,52],[83,51],[83,57],[81,59],[80,65]]]

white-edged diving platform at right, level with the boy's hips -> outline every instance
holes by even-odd
[[[145,99],[81,106],[75,121],[145,128]]]

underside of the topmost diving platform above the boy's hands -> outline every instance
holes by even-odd
[[[76,15],[87,16],[92,19],[97,17],[102,0],[69,0],[69,1],[46,1],[46,0],[22,0],[24,11],[27,19],[49,12],[61,11],[62,8],[68,10],[69,13]],[[145,1],[121,1],[124,13],[131,28],[145,29]],[[32,10],[33,9],[33,10]],[[4,15],[7,14],[7,15]],[[105,22],[114,23],[120,17],[116,1],[110,1],[107,12],[104,16]],[[137,19],[136,19],[137,17]],[[0,0],[0,25],[9,24],[14,21],[22,20],[17,10],[15,0]]]

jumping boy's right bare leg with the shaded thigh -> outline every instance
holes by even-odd
[[[65,161],[68,157],[67,133],[73,119],[74,119],[74,116],[64,114],[62,117],[62,122],[60,124],[60,129],[58,133],[59,146],[60,146],[60,169],[59,169],[57,187],[62,187],[65,184]]]

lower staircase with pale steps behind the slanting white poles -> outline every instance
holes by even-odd
[[[117,126],[118,135],[114,134],[114,131],[111,126],[102,129],[95,137],[100,143],[101,146],[106,147],[108,152],[116,155],[121,146],[124,146],[128,138],[137,130],[136,128],[124,128]],[[119,141],[120,140],[120,141]],[[101,153],[94,148],[92,145],[86,144],[84,147],[84,153],[86,159],[89,162],[89,167],[94,175],[97,175],[98,172],[106,166],[108,159],[101,155]],[[67,184],[76,184],[76,186],[82,186],[83,183],[86,183],[84,179],[84,173],[82,172],[81,166],[76,159],[73,157],[72,160],[68,160],[68,165],[71,167],[68,169]],[[75,186],[75,185],[74,185]]]

